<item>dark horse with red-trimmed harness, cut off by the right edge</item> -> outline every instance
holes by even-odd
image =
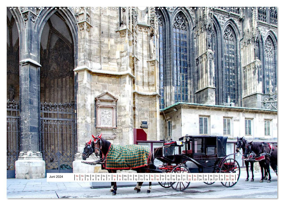
[[[249,153],[252,152],[256,153],[256,158],[258,156],[264,156],[264,160],[261,160],[264,161],[264,163],[259,163],[261,166],[261,180],[259,182],[263,182],[264,180],[263,169],[266,169],[268,173],[267,182],[271,182],[269,164],[271,164],[271,168],[273,168],[273,170],[275,169],[274,171],[276,171],[277,174],[277,146],[251,141],[245,145],[245,157],[247,158]]]

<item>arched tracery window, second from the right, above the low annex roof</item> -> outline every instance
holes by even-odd
[[[228,96],[233,102],[237,102],[237,45],[233,29],[228,26],[223,35],[223,60],[224,60],[224,98],[227,102]]]

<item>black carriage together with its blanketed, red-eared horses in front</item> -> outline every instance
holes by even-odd
[[[226,155],[227,137],[223,136],[184,136],[179,141],[170,140],[163,146],[154,148],[154,155],[146,146],[115,146],[100,136],[86,143],[82,159],[86,160],[92,153],[100,156],[95,162],[83,162],[102,165],[110,173],[116,170],[135,170],[137,173],[235,173],[235,182],[221,182],[225,187],[234,186],[240,177],[240,165],[231,158],[235,153]],[[163,165],[156,167],[154,157]],[[140,192],[143,182],[137,182],[134,190]],[[214,182],[204,182],[213,184]],[[190,182],[159,182],[162,187],[172,187],[184,191]],[[150,193],[151,182],[147,193]],[[111,182],[111,192],[116,194],[116,182]]]

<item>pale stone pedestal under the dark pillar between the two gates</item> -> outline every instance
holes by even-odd
[[[15,168],[16,179],[45,178],[45,162],[40,152],[20,152]]]

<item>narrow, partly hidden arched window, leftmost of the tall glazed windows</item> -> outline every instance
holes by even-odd
[[[164,62],[164,52],[165,52],[165,35],[164,35],[164,20],[160,12],[156,12],[157,19],[159,22],[159,56],[157,56],[157,60],[159,61],[159,80],[160,80],[160,109],[165,108],[165,96],[164,96],[164,85],[165,85],[165,77],[166,77],[166,69]]]

